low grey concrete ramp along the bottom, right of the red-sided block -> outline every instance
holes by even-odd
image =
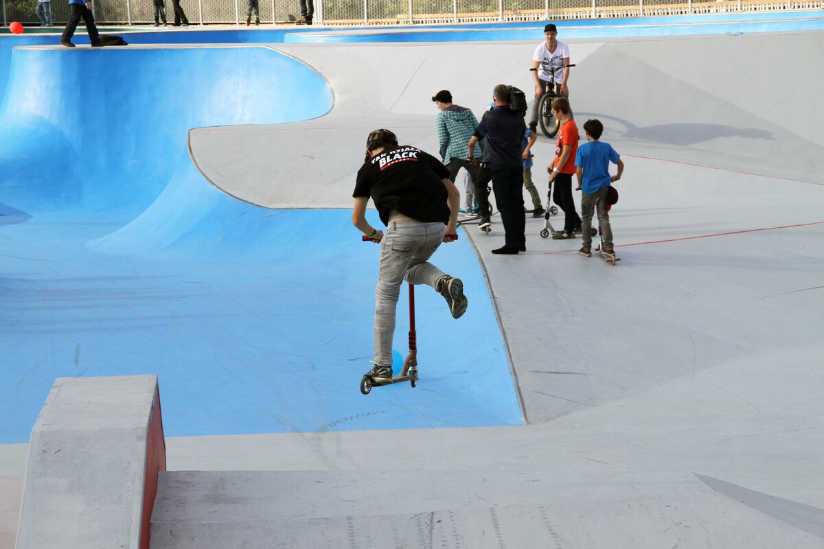
[[[166,472],[152,517],[152,549],[812,549],[822,541],[688,473]]]

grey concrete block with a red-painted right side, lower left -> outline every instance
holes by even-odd
[[[31,431],[17,549],[147,549],[164,470],[157,375],[57,379]]]

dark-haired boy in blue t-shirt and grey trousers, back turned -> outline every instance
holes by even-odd
[[[620,179],[624,172],[624,162],[609,143],[598,139],[604,132],[604,125],[600,120],[591,119],[583,124],[587,133],[587,142],[578,147],[578,156],[575,156],[575,165],[578,167],[578,188],[583,191],[581,198],[581,227],[583,229],[583,246],[578,254],[587,257],[592,255],[592,210],[597,207],[598,222],[601,224],[605,254],[615,255],[612,244],[612,229],[610,216],[606,205],[606,193],[610,184]],[[610,162],[618,165],[618,174],[610,176]]]

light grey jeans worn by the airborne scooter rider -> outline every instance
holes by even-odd
[[[392,365],[392,336],[400,283],[427,284],[436,290],[446,277],[427,259],[443,242],[443,223],[390,221],[381,240],[381,264],[375,287],[375,362]]]

